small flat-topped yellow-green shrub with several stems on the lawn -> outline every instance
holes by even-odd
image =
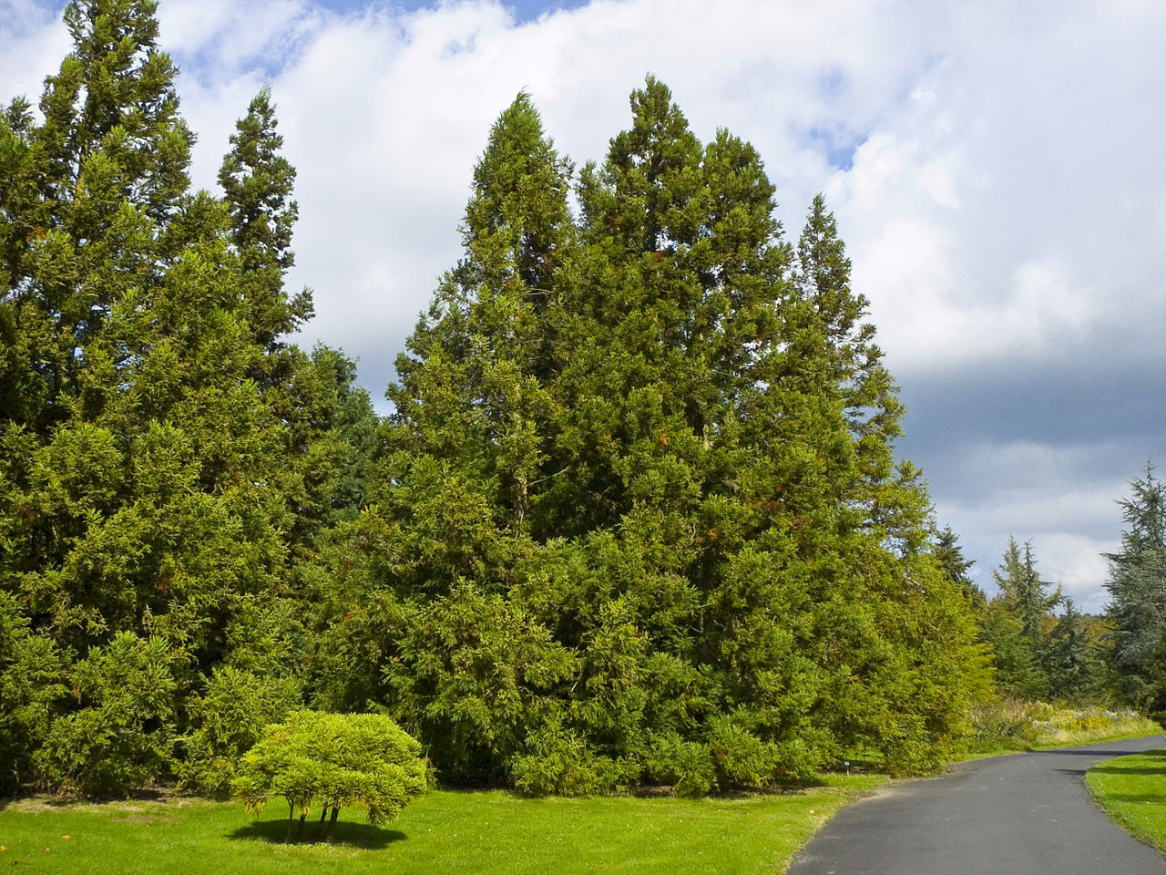
[[[303,819],[314,803],[332,811],[331,830],[344,805],[367,810],[370,824],[394,820],[426,790],[421,746],[380,714],[322,714],[300,710],[268,726],[244,755],[232,782],[247,811],[258,814],[272,796],[282,796],[292,817]],[[331,834],[331,833],[330,833]]]

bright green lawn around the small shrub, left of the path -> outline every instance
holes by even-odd
[[[240,805],[202,799],[68,805],[24,799],[0,803],[0,866],[103,875],[773,875],[838,808],[880,782],[830,776],[803,792],[718,799],[522,799],[438,791],[385,828],[363,822],[358,811],[340,812],[335,845],[281,844],[282,800],[254,820]]]

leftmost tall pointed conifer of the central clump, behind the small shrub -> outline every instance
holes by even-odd
[[[475,170],[465,258],[388,390],[372,505],[347,530],[367,565],[345,564],[322,598],[349,620],[324,634],[317,701],[385,700],[455,778],[504,779],[573,665],[543,625],[553,601],[526,581],[554,407],[548,314],[570,275],[568,174],[519,94]]]

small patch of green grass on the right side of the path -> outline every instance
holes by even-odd
[[[1086,783],[1111,818],[1166,850],[1166,750],[1107,760]]]

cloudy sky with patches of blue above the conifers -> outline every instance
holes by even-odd
[[[0,0],[0,99],[69,50],[56,0]],[[213,188],[271,84],[298,172],[300,338],[393,360],[459,256],[476,158],[526,90],[576,163],[653,74],[702,139],[750,140],[796,239],[834,210],[923,469],[992,589],[1009,537],[1104,607],[1117,499],[1166,464],[1160,0],[161,0]],[[1160,471],[1161,473],[1161,471]]]

